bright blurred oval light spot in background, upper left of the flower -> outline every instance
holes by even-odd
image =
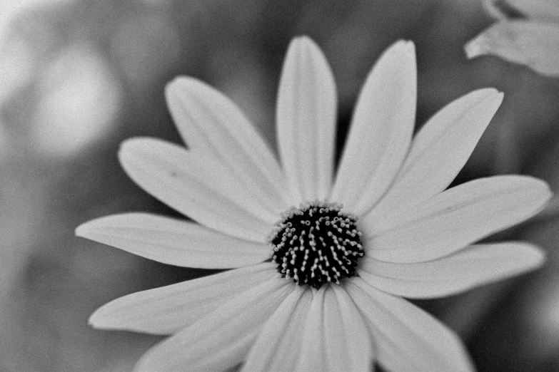
[[[122,92],[93,48],[66,49],[39,83],[31,140],[40,153],[67,157],[111,133]]]

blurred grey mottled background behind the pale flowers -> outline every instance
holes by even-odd
[[[179,143],[163,98],[201,78],[243,108],[273,144],[274,103],[293,36],[323,48],[336,76],[338,144],[356,95],[398,38],[418,53],[417,127],[450,100],[493,86],[505,100],[455,183],[535,175],[559,191],[559,78],[463,45],[492,23],[468,1],[0,1],[0,371],[129,371],[160,337],[96,331],[91,312],[124,294],[210,272],[151,262],[74,237],[94,217],[174,215],[134,185],[126,138]],[[538,272],[416,302],[460,334],[479,371],[559,371],[559,218],[492,240],[539,244]]]

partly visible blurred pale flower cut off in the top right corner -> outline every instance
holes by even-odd
[[[465,44],[468,58],[492,54],[545,76],[559,76],[556,0],[483,0],[498,22]]]

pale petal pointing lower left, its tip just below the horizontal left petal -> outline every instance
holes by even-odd
[[[101,306],[89,324],[100,329],[172,334],[256,286],[273,286],[277,276],[275,265],[265,262],[136,292]]]

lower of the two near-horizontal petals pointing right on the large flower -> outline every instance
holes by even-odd
[[[476,244],[419,264],[392,264],[363,257],[358,273],[368,284],[388,293],[430,299],[528,272],[544,259],[541,249],[530,244]]]

